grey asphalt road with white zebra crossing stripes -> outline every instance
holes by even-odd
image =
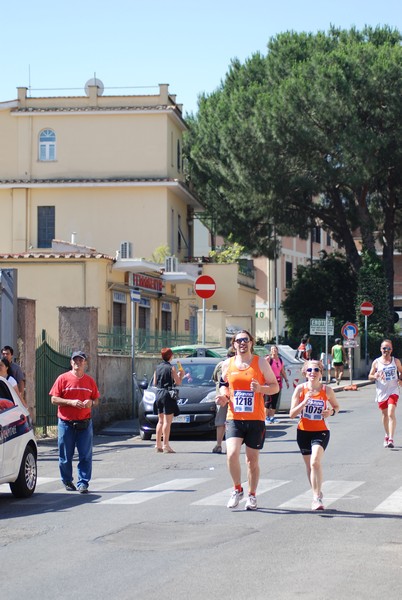
[[[64,491],[55,444],[41,442],[34,496],[0,486],[2,597],[399,600],[402,422],[384,449],[373,396],[337,394],[323,513],[310,510],[287,417],[267,431],[256,512],[226,508],[231,482],[211,440],[172,440],[167,455],[98,436],[87,496]]]

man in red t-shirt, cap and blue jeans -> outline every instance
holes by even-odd
[[[71,371],[54,382],[49,394],[57,405],[59,469],[67,491],[88,492],[92,475],[93,428],[91,408],[97,404],[99,390],[95,381],[85,373],[86,354],[78,351],[71,356]],[[77,448],[77,487],[73,483],[73,456]]]

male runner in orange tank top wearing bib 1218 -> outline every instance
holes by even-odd
[[[233,493],[227,504],[236,508],[243,498],[240,450],[246,446],[248,498],[246,510],[257,508],[257,486],[260,476],[259,454],[265,440],[264,394],[279,391],[276,377],[263,356],[253,354],[254,338],[246,331],[232,339],[235,356],[222,365],[221,386],[216,403],[228,405],[226,420],[226,452]]]

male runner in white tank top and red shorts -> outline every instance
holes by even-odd
[[[375,399],[378,408],[381,410],[382,424],[385,431],[384,448],[394,447],[396,407],[402,375],[401,361],[392,356],[392,351],[391,340],[383,340],[381,342],[381,356],[373,360],[369,373],[369,379],[375,381]]]

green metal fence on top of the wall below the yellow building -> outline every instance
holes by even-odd
[[[161,348],[196,344],[197,336],[172,331],[152,332],[146,329],[135,330],[136,353],[155,354]],[[131,331],[122,327],[99,328],[98,352],[100,354],[131,354]]]

